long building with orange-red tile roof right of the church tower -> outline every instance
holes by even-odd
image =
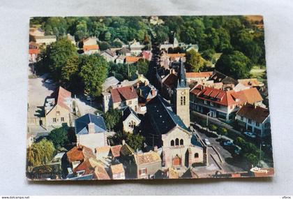
[[[241,91],[215,89],[201,84],[190,90],[190,109],[209,117],[229,121],[244,103],[262,104],[262,96],[255,88]]]

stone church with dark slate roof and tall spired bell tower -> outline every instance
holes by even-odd
[[[181,62],[174,91],[174,106],[160,94],[147,103],[146,142],[162,148],[163,168],[190,168],[203,162],[203,147],[190,132],[189,87]]]

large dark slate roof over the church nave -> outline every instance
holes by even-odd
[[[159,94],[147,103],[147,115],[157,135],[168,133],[175,126],[189,131],[181,118],[172,111],[170,104]]]

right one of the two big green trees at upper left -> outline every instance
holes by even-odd
[[[90,96],[97,97],[102,93],[102,84],[107,78],[109,65],[100,55],[91,54],[84,56],[80,77],[84,83],[84,91]]]

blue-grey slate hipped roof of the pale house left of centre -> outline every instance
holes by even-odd
[[[95,133],[101,133],[101,132],[107,131],[106,124],[103,117],[89,113],[87,115],[84,115],[80,118],[75,119],[75,134],[76,135],[88,134],[89,133],[88,125],[91,122],[95,124]]]

